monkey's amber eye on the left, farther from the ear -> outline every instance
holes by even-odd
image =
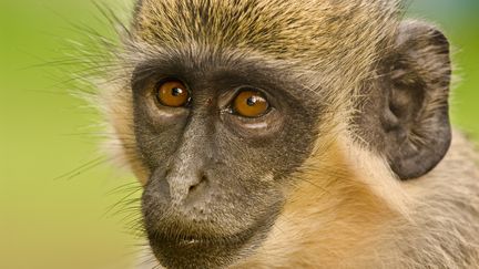
[[[157,100],[163,105],[180,107],[187,105],[190,102],[190,92],[180,81],[166,81],[160,83],[156,89]]]

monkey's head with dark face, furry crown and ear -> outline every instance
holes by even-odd
[[[350,145],[384,180],[426,175],[450,143],[448,48],[397,1],[140,1],[103,97],[159,261],[254,256],[308,205],[298,185],[348,180]]]

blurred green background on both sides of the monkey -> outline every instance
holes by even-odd
[[[441,25],[455,45],[453,123],[479,136],[479,1],[417,0],[410,13]],[[100,128],[61,82],[79,66],[49,62],[84,39],[71,23],[111,34],[98,18],[92,1],[0,0],[0,269],[121,269],[139,256],[131,217],[108,213],[136,187],[132,175],[100,164],[58,178],[101,156],[89,135]]]

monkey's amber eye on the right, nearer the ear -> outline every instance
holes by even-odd
[[[257,91],[243,91],[234,100],[234,112],[244,117],[259,117],[268,108],[266,97]]]

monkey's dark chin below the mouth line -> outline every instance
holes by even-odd
[[[149,230],[153,254],[165,268],[225,268],[261,246],[273,221],[268,218],[231,236],[192,236]]]

